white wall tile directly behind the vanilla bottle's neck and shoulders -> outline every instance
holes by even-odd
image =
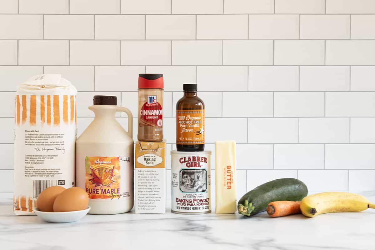
[[[198,97],[204,102],[205,117],[222,116],[222,93],[221,92],[201,92],[198,85]],[[176,104],[183,97],[183,92],[173,92],[172,116],[176,116]]]

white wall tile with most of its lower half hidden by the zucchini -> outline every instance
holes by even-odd
[[[248,170],[247,190],[280,178],[297,178],[297,170]]]

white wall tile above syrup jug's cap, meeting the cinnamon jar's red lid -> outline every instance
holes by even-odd
[[[137,91],[140,73],[144,66],[96,66],[95,91]]]

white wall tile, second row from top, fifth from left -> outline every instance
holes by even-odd
[[[197,15],[196,39],[247,39],[247,15]]]

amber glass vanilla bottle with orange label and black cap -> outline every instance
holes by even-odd
[[[184,84],[184,96],[176,104],[177,151],[204,151],[204,103],[196,84]]]

